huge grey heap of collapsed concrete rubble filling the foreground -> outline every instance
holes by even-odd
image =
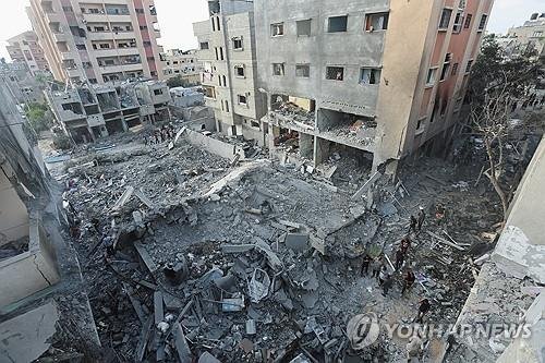
[[[399,360],[405,342],[386,337],[354,351],[348,320],[368,311],[410,320],[427,297],[429,318],[453,323],[477,268],[470,252],[489,247],[481,233],[497,216],[434,160],[408,166],[395,185],[380,179],[371,201],[362,191],[375,176],[343,158],[332,173],[262,159],[235,167],[182,143],[78,161],[64,195],[80,220],[74,245],[102,344],[124,360]],[[447,206],[439,226],[437,203]],[[419,205],[428,220],[410,234],[403,268],[388,267],[396,282],[384,295],[361,276],[362,257],[392,261]],[[408,267],[417,286],[401,297]]]

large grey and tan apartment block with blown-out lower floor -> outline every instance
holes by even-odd
[[[220,131],[395,169],[449,143],[493,0],[208,4],[194,32]]]

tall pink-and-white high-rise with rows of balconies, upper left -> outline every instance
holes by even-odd
[[[32,0],[27,13],[59,81],[162,77],[152,0]]]

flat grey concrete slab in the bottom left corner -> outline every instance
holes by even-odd
[[[0,361],[26,363],[39,358],[51,346],[59,313],[49,302],[0,324]]]

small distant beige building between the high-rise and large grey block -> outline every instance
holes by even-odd
[[[165,53],[162,73],[166,78],[180,76],[189,84],[198,84],[203,70],[203,63],[197,60],[196,50],[169,49]]]

